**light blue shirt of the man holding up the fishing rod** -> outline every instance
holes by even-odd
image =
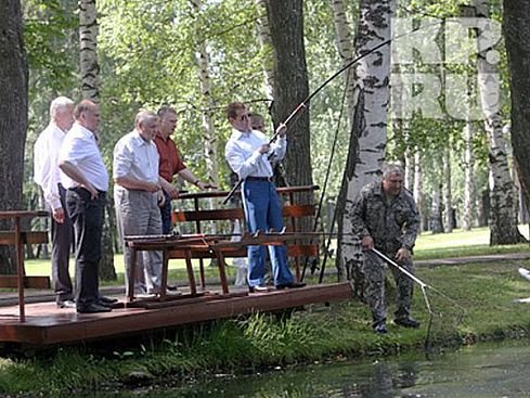
[[[269,153],[259,153],[260,146],[267,143],[269,140],[261,131],[232,130],[232,136],[224,147],[224,157],[240,179],[243,180],[249,176],[272,177],[271,161],[279,162],[284,158],[287,140],[285,137],[279,137],[271,144]]]

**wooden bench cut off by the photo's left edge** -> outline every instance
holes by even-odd
[[[50,288],[48,277],[26,277],[24,268],[24,245],[48,243],[47,231],[23,231],[22,220],[35,217],[49,217],[48,211],[2,210],[0,219],[11,219],[13,230],[0,231],[0,245],[15,246],[16,274],[0,274],[0,287],[18,291],[18,313],[21,322],[26,321],[24,288]]]

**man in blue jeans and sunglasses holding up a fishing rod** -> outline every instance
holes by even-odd
[[[281,231],[282,205],[276,187],[272,182],[271,159],[281,161],[287,150],[286,126],[277,129],[279,139],[269,144],[266,136],[251,130],[246,106],[232,102],[227,107],[227,118],[232,125],[232,136],[224,151],[228,164],[243,180],[242,201],[247,228],[250,233],[257,231]],[[276,288],[302,287],[306,284],[295,282],[287,264],[285,245],[269,246],[272,273]],[[251,293],[267,292],[264,286],[264,246],[248,246],[248,286]]]

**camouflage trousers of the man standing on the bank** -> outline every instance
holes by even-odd
[[[396,253],[385,253],[393,259]],[[398,261],[396,261],[398,262]],[[401,267],[411,273],[414,273],[412,259],[398,262]],[[397,300],[395,318],[408,318],[411,313],[411,301],[413,293],[413,281],[403,272],[391,265],[387,265],[373,252],[364,252],[364,298],[372,311],[374,325],[386,321],[386,301],[385,301],[385,274],[387,268],[390,268],[397,285]]]

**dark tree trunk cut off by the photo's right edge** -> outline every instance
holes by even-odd
[[[503,1],[503,33],[512,99],[512,146],[526,208],[530,208],[530,2]]]

